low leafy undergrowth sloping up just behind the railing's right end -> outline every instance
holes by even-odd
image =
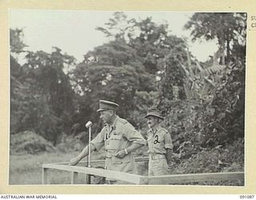
[[[236,152],[236,154],[234,154]],[[227,146],[202,149],[187,159],[179,159],[172,174],[214,173],[244,170],[244,141],[238,139]]]

